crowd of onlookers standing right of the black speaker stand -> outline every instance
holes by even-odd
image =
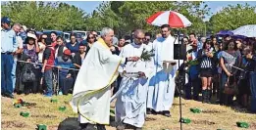
[[[253,78],[251,72],[256,70],[256,40],[229,34],[222,38],[213,35],[198,41],[194,33],[183,38],[188,76],[185,98],[198,101],[201,92],[203,103],[248,108],[252,90],[250,82],[253,81],[250,80]],[[216,95],[215,101],[211,100],[213,95]]]

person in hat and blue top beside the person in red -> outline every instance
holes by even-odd
[[[68,95],[69,91],[73,87],[73,70],[69,69],[74,67],[71,60],[71,51],[69,49],[65,50],[63,56],[59,56],[55,59],[54,65],[58,67],[59,70],[59,95]]]

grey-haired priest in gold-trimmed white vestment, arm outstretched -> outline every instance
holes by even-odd
[[[110,85],[118,76],[118,67],[138,58],[121,58],[112,55],[114,31],[104,27],[101,38],[93,44],[83,61],[74,87],[71,106],[78,113],[81,129],[105,130],[110,116]]]

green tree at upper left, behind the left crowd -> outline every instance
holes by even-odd
[[[72,30],[85,27],[85,14],[81,9],[66,3],[19,1],[5,2],[1,5],[2,16],[27,27],[41,29]]]

